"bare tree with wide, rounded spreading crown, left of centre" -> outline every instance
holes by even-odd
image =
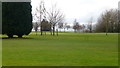
[[[64,14],[56,8],[56,5],[52,6],[48,13],[48,20],[51,23],[51,27],[53,30],[53,35],[55,35],[55,26],[57,23],[61,23],[64,21]]]

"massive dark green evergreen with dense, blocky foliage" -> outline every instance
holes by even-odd
[[[2,34],[10,38],[28,35],[32,30],[30,2],[3,2],[2,22]]]

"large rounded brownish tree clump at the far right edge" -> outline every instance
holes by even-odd
[[[97,32],[118,32],[118,10],[110,9],[106,10],[101,16],[98,18],[98,23],[96,25]]]

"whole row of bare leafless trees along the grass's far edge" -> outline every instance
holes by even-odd
[[[113,33],[119,31],[117,9],[110,9],[103,12],[97,19],[95,25],[93,25],[93,17],[90,17],[88,24],[80,25],[75,19],[73,21],[73,26],[70,26],[65,23],[65,15],[56,7],[56,5],[52,6],[49,11],[46,11],[44,2],[41,1],[40,6],[36,8],[34,17],[39,21],[39,23],[33,23],[34,29],[37,32],[38,27],[40,27],[41,35],[42,31],[51,31],[51,35],[55,35],[56,26],[58,26],[59,29],[64,29],[64,31],[65,29],[73,28],[74,32],[82,30],[82,32],[104,32],[107,34],[108,32]],[[46,20],[48,23],[42,24],[43,20]],[[43,30],[45,28],[49,28],[49,30]]]

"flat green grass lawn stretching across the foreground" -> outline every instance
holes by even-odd
[[[117,66],[118,34],[59,33],[3,39],[3,66]]]

